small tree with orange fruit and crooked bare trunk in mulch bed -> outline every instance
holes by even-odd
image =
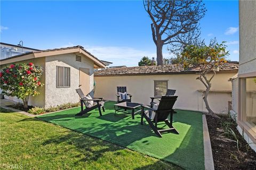
[[[207,101],[207,96],[212,87],[211,80],[216,75],[216,69],[223,63],[226,63],[226,56],[229,53],[226,51],[226,45],[213,43],[211,41],[209,46],[203,45],[189,45],[183,49],[183,52],[178,57],[180,62],[183,63],[185,69],[189,67],[200,67],[199,76],[197,80],[200,80],[206,87],[206,91],[203,97],[205,107],[212,117],[218,117],[214,114]],[[212,72],[213,75],[207,78],[206,74]],[[219,118],[219,117],[218,117]]]

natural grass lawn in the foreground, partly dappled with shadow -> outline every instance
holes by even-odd
[[[1,169],[181,169],[3,108],[0,123]]]

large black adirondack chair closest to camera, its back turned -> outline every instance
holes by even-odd
[[[174,112],[173,105],[177,100],[177,97],[178,96],[162,96],[157,109],[151,108],[147,105],[141,105],[141,124],[143,124],[143,117],[145,117],[151,129],[153,129],[153,131],[160,138],[162,138],[161,133],[164,133],[164,132],[174,132],[176,134],[179,134],[179,132],[172,126],[173,112]],[[146,110],[148,110],[148,112],[146,112]],[[151,116],[153,114],[153,111],[155,111],[155,117],[152,120]],[[169,115],[170,115],[170,122],[168,119]],[[159,130],[157,128],[158,122],[165,122],[165,124],[169,126],[169,129]]]

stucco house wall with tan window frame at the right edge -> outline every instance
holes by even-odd
[[[233,89],[238,94],[238,102],[234,106],[238,107],[237,129],[256,151],[256,127],[246,120],[246,105],[253,102],[248,98],[249,94],[245,94],[250,90],[246,89],[246,78],[256,78],[256,1],[239,1],[238,89]]]

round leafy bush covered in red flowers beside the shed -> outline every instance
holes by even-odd
[[[37,88],[43,86],[39,81],[43,72],[42,67],[29,64],[11,64],[0,72],[0,88],[7,96],[16,96],[28,108],[29,96],[37,96]]]

